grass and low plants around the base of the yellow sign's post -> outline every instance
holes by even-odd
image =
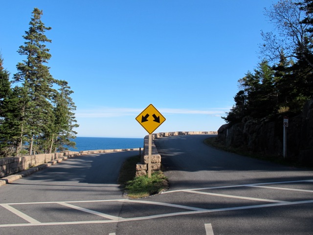
[[[148,178],[147,175],[135,177],[138,162],[140,162],[140,156],[127,159],[119,174],[118,183],[123,185],[128,197],[147,197],[168,188],[167,178],[162,171],[152,173],[151,178]]]

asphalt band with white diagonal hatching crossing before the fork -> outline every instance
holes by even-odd
[[[279,187],[277,187],[279,186]],[[225,193],[216,193],[224,189],[230,190],[239,188],[237,195]],[[270,194],[270,198],[245,196],[245,192],[253,188],[262,194],[262,189],[271,189],[275,194]],[[300,192],[300,196],[292,196],[292,192]],[[207,202],[206,207],[198,208],[192,205],[192,201],[185,201],[183,204],[166,203],[166,194],[190,194],[195,197],[201,196],[201,201]],[[265,192],[264,192],[265,193]],[[267,192],[268,194],[268,192]],[[178,197],[178,196],[176,196]],[[181,197],[181,195],[180,195]],[[186,197],[186,196],[184,196]],[[223,207],[216,207],[213,197],[227,198]],[[268,195],[269,197],[269,195]],[[155,199],[150,201],[150,199]],[[275,198],[275,199],[274,199]],[[286,201],[288,199],[288,201]],[[0,204],[2,209],[1,217],[8,212],[17,217],[10,216],[10,222],[0,227],[20,227],[20,226],[50,226],[50,225],[70,225],[70,224],[94,224],[94,223],[118,223],[134,220],[155,219],[169,216],[179,216],[195,213],[210,213],[217,211],[248,210],[254,208],[289,206],[294,204],[313,203],[313,179],[302,181],[287,182],[268,182],[261,184],[233,185],[211,188],[193,188],[180,189],[175,191],[166,191],[154,197],[148,197],[140,200],[129,199],[111,199],[111,200],[91,200],[91,201],[66,201],[66,202],[28,202],[28,203],[7,203]],[[145,206],[149,205],[151,209],[148,212]],[[123,206],[124,212],[120,213]],[[129,207],[129,209],[126,209]],[[132,208],[136,212],[129,213]],[[45,211],[45,216],[36,212],[36,210]],[[60,216],[62,211],[62,216]],[[127,212],[128,211],[128,212]],[[78,213],[79,212],[79,213]],[[67,214],[65,216],[65,214]],[[79,214],[79,216],[77,216]],[[57,220],[56,220],[57,218]],[[88,218],[88,219],[87,219]],[[21,219],[24,220],[21,223]],[[60,221],[61,220],[61,221]]]

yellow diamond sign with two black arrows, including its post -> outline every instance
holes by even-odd
[[[135,119],[149,133],[148,178],[151,178],[152,133],[165,121],[165,118],[150,104]]]

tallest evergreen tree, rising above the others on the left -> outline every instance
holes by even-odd
[[[52,88],[55,80],[49,73],[49,67],[45,65],[51,57],[45,46],[51,40],[45,36],[45,31],[51,27],[46,27],[41,21],[41,10],[34,8],[32,14],[29,30],[23,36],[25,43],[18,50],[26,59],[18,63],[18,72],[13,76],[13,82],[22,83],[23,88],[17,154],[23,149],[24,138],[29,143],[29,154],[32,154],[34,140],[40,138],[52,119],[51,93],[55,92]]]

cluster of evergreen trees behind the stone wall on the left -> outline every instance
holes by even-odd
[[[54,79],[46,65],[51,54],[45,44],[51,40],[45,32],[51,27],[41,21],[42,15],[43,11],[34,8],[25,42],[18,50],[25,59],[17,64],[11,82],[0,66],[2,156],[48,153],[75,145],[73,128],[78,125],[70,98],[73,92],[66,81]]]

